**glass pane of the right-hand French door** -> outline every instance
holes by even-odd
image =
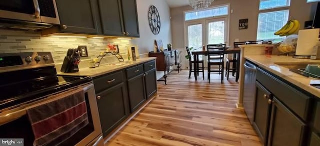
[[[224,21],[215,21],[208,24],[208,44],[224,43]]]

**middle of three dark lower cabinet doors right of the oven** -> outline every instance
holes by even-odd
[[[128,80],[128,93],[131,113],[133,113],[145,101],[143,82],[143,74]]]

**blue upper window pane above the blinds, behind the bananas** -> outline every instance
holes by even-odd
[[[290,0],[260,0],[259,9],[289,6]]]

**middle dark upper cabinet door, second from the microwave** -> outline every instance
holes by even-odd
[[[123,36],[120,0],[98,0],[103,34]]]

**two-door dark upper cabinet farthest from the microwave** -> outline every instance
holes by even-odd
[[[136,0],[98,0],[103,35],[139,37]]]

